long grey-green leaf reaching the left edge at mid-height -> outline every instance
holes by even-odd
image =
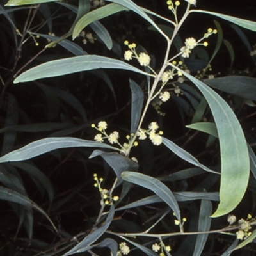
[[[58,148],[73,148],[73,147],[99,147],[116,150],[107,144],[97,141],[82,140],[77,138],[46,138],[29,143],[25,147],[14,150],[5,156],[0,157],[0,163],[10,161],[23,161],[35,156],[40,156]]]

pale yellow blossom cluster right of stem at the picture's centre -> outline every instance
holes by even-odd
[[[159,126],[157,122],[151,122],[148,125],[148,130],[140,128],[139,131],[137,132],[138,139],[139,140],[145,140],[147,138],[150,138],[151,142],[159,146],[163,142],[163,138],[161,135],[163,135],[163,131],[159,131],[158,133],[156,132],[159,129]]]

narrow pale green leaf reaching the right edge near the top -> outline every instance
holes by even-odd
[[[251,21],[251,20],[244,20],[244,19],[240,19],[237,17],[233,17],[233,16],[229,16],[229,15],[225,15],[222,13],[216,13],[216,12],[209,12],[209,11],[205,11],[205,10],[191,10],[189,12],[198,12],[198,13],[206,13],[206,14],[210,14],[210,15],[214,15],[216,17],[219,17],[223,20],[228,20],[234,24],[237,24],[238,26],[241,26],[243,28],[252,30],[252,31],[256,31],[256,22],[255,21]]]

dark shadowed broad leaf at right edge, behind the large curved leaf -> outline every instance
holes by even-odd
[[[256,100],[256,79],[247,76],[227,76],[205,79],[204,83],[245,99]]]

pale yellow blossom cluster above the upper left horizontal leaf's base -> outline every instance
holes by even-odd
[[[150,64],[151,59],[147,53],[141,52],[140,54],[137,54],[135,43],[129,44],[129,42],[126,40],[124,44],[127,45],[129,48],[129,50],[124,52],[125,60],[130,61],[132,60],[132,58],[135,58],[138,60],[140,65],[144,67],[147,67]]]

